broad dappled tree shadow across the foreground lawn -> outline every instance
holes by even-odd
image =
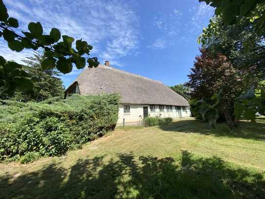
[[[195,158],[120,154],[78,160],[70,169],[56,164],[0,180],[1,198],[262,198],[262,174],[234,168],[218,157]]]

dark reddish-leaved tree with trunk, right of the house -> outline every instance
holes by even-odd
[[[222,90],[222,98],[218,98],[220,102],[215,108],[224,116],[227,125],[234,129],[234,99],[245,89],[244,79],[221,53],[212,54],[205,48],[200,51],[201,55],[195,58],[185,86],[191,88],[192,99],[204,99],[206,102]]]

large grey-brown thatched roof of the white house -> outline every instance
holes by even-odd
[[[187,100],[159,81],[102,65],[83,70],[71,86],[74,84],[82,95],[119,93],[121,103],[126,104],[189,106]]]

